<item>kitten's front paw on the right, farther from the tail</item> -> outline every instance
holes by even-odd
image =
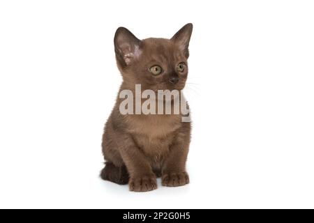
[[[161,184],[165,187],[179,187],[190,183],[188,173],[163,174]]]

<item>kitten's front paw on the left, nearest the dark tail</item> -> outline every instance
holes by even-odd
[[[155,175],[141,176],[133,178],[131,177],[128,182],[130,191],[134,192],[146,192],[157,189],[157,180]]]

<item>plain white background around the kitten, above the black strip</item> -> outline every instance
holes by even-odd
[[[0,208],[314,208],[313,1],[1,1]],[[194,24],[190,185],[98,178],[113,37]]]

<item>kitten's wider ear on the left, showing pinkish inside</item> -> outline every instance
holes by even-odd
[[[140,56],[141,40],[124,27],[119,27],[114,35],[114,51],[121,66],[128,66],[137,56]]]

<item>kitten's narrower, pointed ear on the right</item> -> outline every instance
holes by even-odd
[[[183,26],[174,36],[171,38],[174,43],[179,46],[179,49],[184,52],[186,58],[188,58],[188,43],[190,43],[190,35],[192,34],[193,24],[188,23]]]

